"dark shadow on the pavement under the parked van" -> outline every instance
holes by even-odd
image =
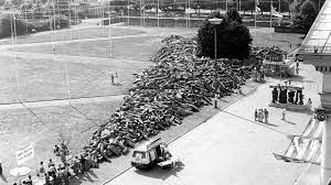
[[[177,176],[180,171],[184,168],[184,164],[182,162],[178,162],[177,166],[171,170],[160,170],[159,167],[154,167],[151,171],[140,171],[136,170],[135,172],[139,175],[145,175],[151,178],[161,178],[167,179],[170,176]]]

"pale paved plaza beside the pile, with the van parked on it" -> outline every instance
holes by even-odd
[[[320,74],[310,65],[300,64],[300,75],[295,83],[305,85],[305,97],[318,106]],[[181,163],[170,172],[153,170],[140,172],[130,168],[107,185],[129,185],[141,182],[153,184],[297,184],[309,164],[277,161],[273,152],[282,154],[290,140],[289,134],[300,134],[310,116],[307,112],[288,111],[281,120],[281,109],[268,107],[271,99],[270,84],[259,86],[256,91],[170,144],[170,151]],[[254,121],[255,108],[267,108],[269,123]]]

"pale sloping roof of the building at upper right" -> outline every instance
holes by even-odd
[[[330,55],[331,54],[331,1],[324,2],[298,54]]]

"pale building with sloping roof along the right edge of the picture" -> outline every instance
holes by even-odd
[[[319,92],[321,107],[316,116],[323,126],[320,184],[331,178],[331,0],[327,0],[306,35],[298,55],[305,63],[312,64],[322,73],[322,91]]]

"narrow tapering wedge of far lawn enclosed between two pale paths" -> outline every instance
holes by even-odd
[[[149,61],[160,46],[162,37],[139,36],[111,40],[111,58]],[[56,46],[56,54],[89,57],[105,57],[110,55],[109,40],[88,41],[79,43],[61,44]],[[20,47],[20,52],[54,54],[52,45],[39,45],[35,47]]]

